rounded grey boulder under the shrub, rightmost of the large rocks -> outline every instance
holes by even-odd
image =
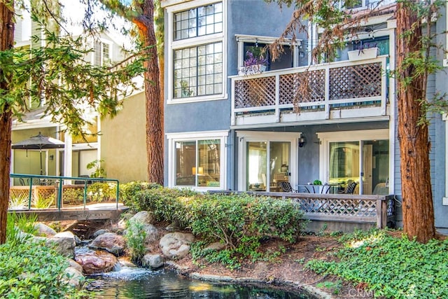
[[[183,232],[170,232],[160,239],[162,253],[170,259],[179,259],[187,256],[190,244],[195,240],[192,234]]]

